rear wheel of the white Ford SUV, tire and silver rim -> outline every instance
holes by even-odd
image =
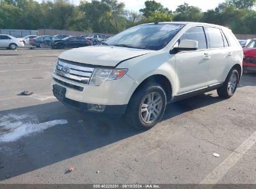
[[[225,79],[224,85],[217,89],[217,93],[222,98],[230,98],[234,95],[239,83],[239,72],[232,68]]]

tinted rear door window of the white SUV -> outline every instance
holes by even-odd
[[[215,27],[206,27],[206,32],[209,37],[210,48],[224,47],[224,42],[220,33],[220,29]]]

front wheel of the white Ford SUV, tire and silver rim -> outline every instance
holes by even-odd
[[[166,93],[161,85],[150,82],[135,91],[126,111],[130,126],[148,130],[155,126],[164,114]]]

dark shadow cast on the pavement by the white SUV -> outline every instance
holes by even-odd
[[[219,101],[222,99],[208,93],[169,104],[163,120]],[[124,118],[82,114],[59,102],[1,111],[0,117],[8,114],[29,114],[33,118],[37,117],[39,122],[67,119],[68,123],[50,127],[16,142],[0,143],[0,162],[4,165],[0,180],[5,180],[6,175],[14,177],[31,172],[140,134],[128,126]]]

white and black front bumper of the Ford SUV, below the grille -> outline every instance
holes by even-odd
[[[107,80],[100,86],[93,86],[77,83],[55,74],[52,75],[51,85],[59,85],[66,89],[65,98],[59,101],[67,106],[88,111],[88,104],[100,104],[106,106],[103,111],[106,114],[124,114],[131,95],[138,86],[127,75],[119,80]]]

